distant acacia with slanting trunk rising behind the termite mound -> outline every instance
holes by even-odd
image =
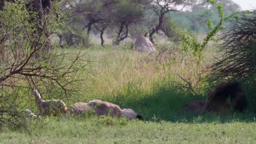
[[[195,3],[195,0],[156,0],[153,1],[151,9],[153,9],[155,15],[158,17],[158,21],[153,28],[149,30],[149,39],[154,43],[153,35],[163,29],[164,18],[170,11],[181,11],[188,5]],[[181,7],[181,8],[179,8]],[[147,33],[145,34],[147,36]]]

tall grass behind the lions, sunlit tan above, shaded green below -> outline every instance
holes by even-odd
[[[201,89],[205,83],[199,82],[205,74],[200,74],[216,54],[208,50],[204,61],[197,64],[188,53],[170,47],[156,53],[121,47],[85,51],[94,61],[94,75],[84,83],[79,100],[106,100],[135,109],[147,118],[155,115],[163,119],[171,119],[188,101],[205,99],[205,89]]]

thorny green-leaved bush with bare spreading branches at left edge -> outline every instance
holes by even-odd
[[[8,3],[0,11],[0,125],[16,124],[24,109],[33,109],[32,89],[39,89],[43,96],[55,92],[61,98],[78,91],[79,81],[87,78],[79,76],[80,71],[88,71],[80,51],[46,49],[49,37],[62,25],[58,8],[52,3],[42,19],[22,1]]]

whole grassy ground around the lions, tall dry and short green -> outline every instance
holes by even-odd
[[[184,104],[206,99],[211,85],[199,80],[206,78],[202,71],[217,55],[214,45],[199,64],[174,45],[159,46],[157,53],[137,53],[130,47],[83,50],[92,61],[92,74],[80,93],[62,100],[67,106],[109,101],[135,110],[144,121],[107,116],[25,118],[18,126],[1,127],[0,143],[256,143],[256,116],[250,111],[255,104],[249,103],[245,113],[222,116],[179,113]],[[34,112],[36,106],[31,103],[27,109]]]

